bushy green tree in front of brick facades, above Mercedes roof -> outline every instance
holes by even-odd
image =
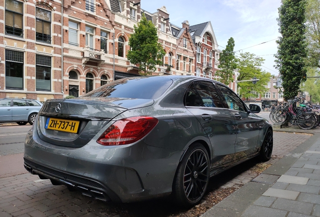
[[[132,64],[139,64],[143,75],[150,75],[155,71],[156,65],[163,64],[166,54],[164,48],[158,43],[157,29],[151,21],[143,15],[138,26],[134,25],[134,33],[129,38],[127,58]]]

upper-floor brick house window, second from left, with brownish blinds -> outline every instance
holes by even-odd
[[[51,43],[51,12],[36,7],[36,41]]]

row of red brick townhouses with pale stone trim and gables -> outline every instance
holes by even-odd
[[[61,5],[63,4],[63,5]],[[128,41],[143,14],[166,55],[154,75],[214,78],[219,50],[211,22],[181,28],[166,7],[149,13],[140,0],[0,0],[0,98],[45,101],[81,96],[109,81],[139,76]]]

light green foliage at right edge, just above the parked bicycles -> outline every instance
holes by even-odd
[[[320,71],[313,67],[307,68],[307,76],[314,77],[320,76]],[[317,103],[320,102],[320,79],[319,78],[308,78],[305,82],[301,83],[301,90],[303,92],[308,92],[311,96],[311,102]]]

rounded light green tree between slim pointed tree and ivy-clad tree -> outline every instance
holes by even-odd
[[[264,59],[257,57],[255,54],[246,52],[240,54],[237,60],[238,81],[251,80],[254,77],[259,79],[253,84],[251,81],[238,82],[240,93],[245,98],[255,97],[257,93],[264,94],[267,91],[266,85],[270,81],[271,74],[261,70]]]

